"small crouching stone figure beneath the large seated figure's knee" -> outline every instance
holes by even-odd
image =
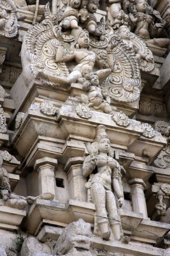
[[[83,80],[83,90],[88,92],[87,95],[81,95],[81,102],[87,104],[90,108],[100,109],[106,114],[113,111],[110,106],[110,97],[99,87],[99,77],[97,73],[87,74]]]

